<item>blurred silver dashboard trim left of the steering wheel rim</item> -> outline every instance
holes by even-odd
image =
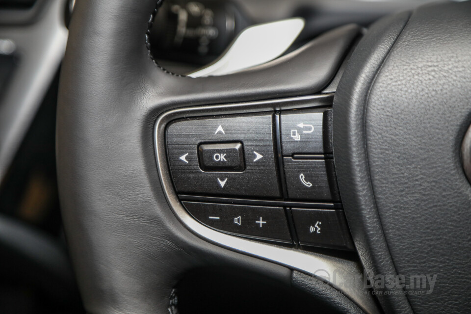
[[[16,45],[19,64],[0,100],[0,183],[50,87],[65,53],[64,0],[45,1],[32,24],[0,27]]]

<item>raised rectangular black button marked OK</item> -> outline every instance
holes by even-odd
[[[198,147],[200,167],[203,171],[244,171],[242,143],[208,143]]]

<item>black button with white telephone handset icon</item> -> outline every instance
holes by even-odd
[[[340,201],[333,160],[285,157],[283,163],[290,199]]]

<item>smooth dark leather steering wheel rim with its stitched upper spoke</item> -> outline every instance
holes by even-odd
[[[154,123],[178,106],[317,92],[359,32],[345,26],[256,69],[194,79],[164,73],[148,56],[154,7],[151,0],[78,1],[70,24],[57,167],[67,239],[90,313],[166,313],[172,287],[199,266],[250,268],[290,285],[288,268],[222,249],[182,226],[158,180]]]

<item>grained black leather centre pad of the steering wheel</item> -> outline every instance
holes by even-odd
[[[339,178],[354,237],[370,245],[357,242],[362,260],[374,272],[391,268],[389,258],[375,250],[385,238],[397,273],[438,276],[432,293],[407,295],[415,313],[471,309],[465,292],[471,280],[471,186],[460,162],[461,141],[471,122],[470,16],[470,1],[417,9],[381,69],[375,62],[345,71],[334,105],[334,136],[341,120],[354,133],[348,157],[340,138],[334,138],[338,172],[342,167],[360,171],[359,165],[365,170],[356,181]],[[354,76],[363,77],[362,71],[373,67],[365,85],[354,82]],[[339,113],[340,108],[347,111]],[[363,117],[358,115],[362,110]],[[355,188],[349,190],[348,184]],[[359,184],[369,187],[362,190]],[[367,208],[355,202],[363,196],[371,199]]]

